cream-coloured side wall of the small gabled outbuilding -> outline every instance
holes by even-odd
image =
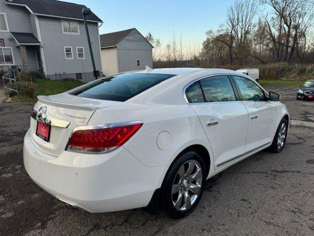
[[[104,75],[111,76],[118,73],[117,66],[117,49],[107,48],[102,49],[102,62],[104,67]]]

